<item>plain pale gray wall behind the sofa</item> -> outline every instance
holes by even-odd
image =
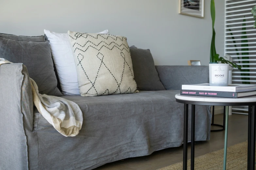
[[[215,0],[216,50],[224,54],[224,0]],[[43,35],[43,29],[66,33],[123,35],[129,45],[150,49],[156,65],[209,64],[212,37],[210,0],[203,19],[178,14],[178,0],[1,0],[0,33]]]

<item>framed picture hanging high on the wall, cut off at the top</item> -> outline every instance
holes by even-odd
[[[179,0],[179,14],[204,18],[204,0]]]

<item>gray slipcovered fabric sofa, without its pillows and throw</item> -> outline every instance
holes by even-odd
[[[26,67],[1,65],[0,169],[93,169],[181,146],[183,105],[174,96],[181,84],[208,82],[208,66],[156,69],[164,91],[63,96],[80,106],[84,119],[77,136],[64,137],[33,107]],[[196,106],[196,141],[210,139],[210,121],[210,106]]]

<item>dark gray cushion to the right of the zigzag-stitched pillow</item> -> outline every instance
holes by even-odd
[[[130,53],[134,80],[138,90],[165,90],[156,71],[150,50],[137,49],[137,47],[131,46]]]

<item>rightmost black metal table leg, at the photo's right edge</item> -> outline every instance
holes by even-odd
[[[251,107],[251,115],[250,115],[250,141],[248,141],[249,144],[249,168],[250,170],[255,169],[255,125],[256,125],[256,107],[252,106]],[[248,138],[248,139],[249,139]]]

